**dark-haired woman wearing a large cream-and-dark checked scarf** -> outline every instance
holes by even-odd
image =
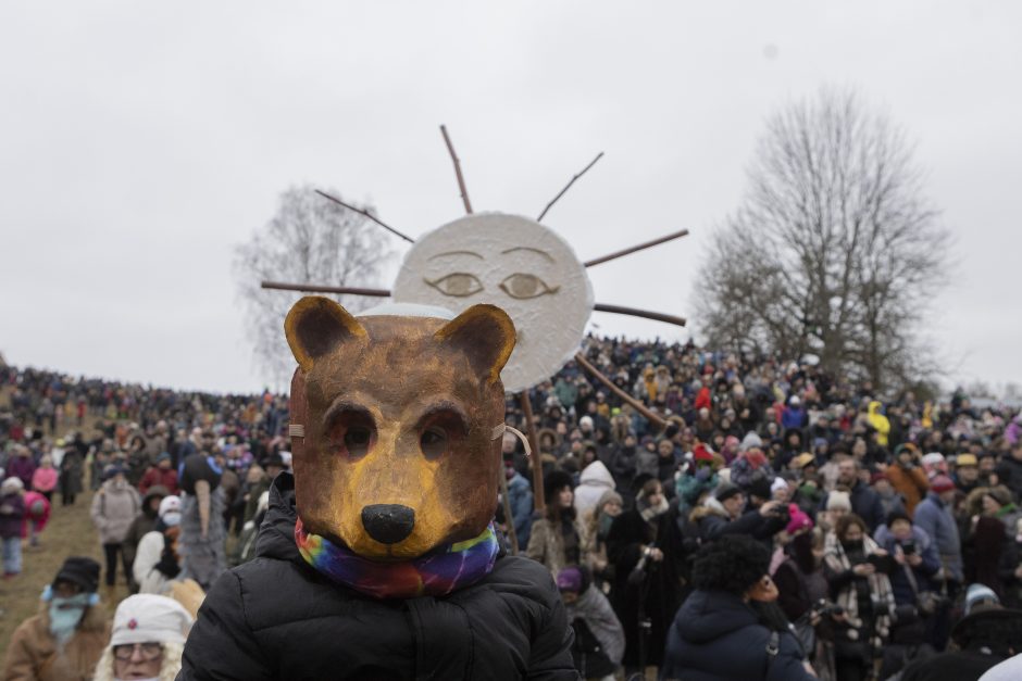
[[[894,560],[855,514],[827,533],[823,559],[831,597],[844,610],[834,639],[837,680],[860,681],[869,678],[890,631],[895,601],[887,575]]]

